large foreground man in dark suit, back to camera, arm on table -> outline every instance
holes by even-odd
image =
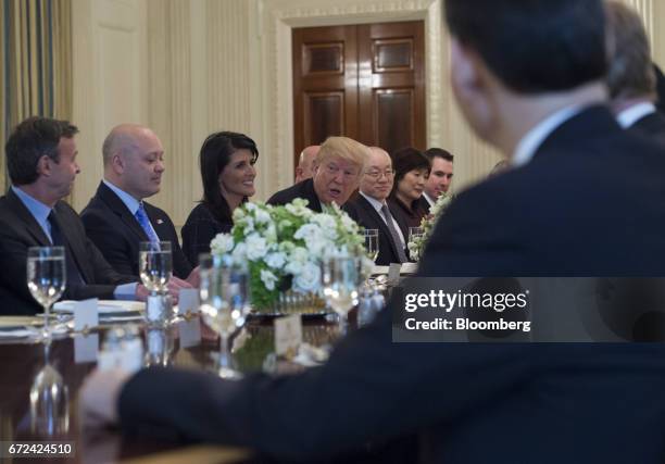
[[[446,12],[454,95],[513,168],[456,198],[419,275],[662,275],[665,158],[603,104],[602,1],[447,0]],[[417,432],[414,462],[663,462],[664,347],[396,343],[389,305],[298,376],[97,374],[83,402],[127,431],[288,461]]]

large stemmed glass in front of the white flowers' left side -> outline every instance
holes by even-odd
[[[234,264],[229,255],[202,254],[199,259],[201,317],[219,334],[216,366],[222,378],[240,378],[234,368],[229,339],[244,324],[249,311],[247,268]]]

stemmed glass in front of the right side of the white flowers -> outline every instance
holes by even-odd
[[[338,256],[330,260],[330,284],[326,301],[339,316],[339,331],[347,333],[347,314],[357,304],[360,280],[357,258]]]

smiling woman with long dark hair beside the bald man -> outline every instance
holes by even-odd
[[[254,140],[243,134],[214,133],[199,154],[203,199],[191,210],[183,226],[183,251],[192,264],[199,254],[210,252],[210,242],[234,226],[233,213],[254,195],[254,163],[259,150]]]

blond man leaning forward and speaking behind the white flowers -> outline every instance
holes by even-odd
[[[357,188],[367,147],[348,137],[329,137],[321,146],[314,161],[314,177],[280,190],[268,204],[286,204],[297,198],[308,200],[308,206],[322,212],[322,204],[341,206]]]

